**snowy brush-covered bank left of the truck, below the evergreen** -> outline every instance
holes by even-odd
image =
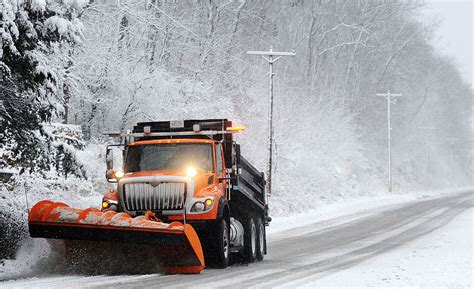
[[[23,173],[0,187],[0,259],[16,259],[16,262],[0,267],[0,271],[13,266],[12,270],[17,272],[29,272],[48,256],[49,246],[28,236],[27,208],[31,209],[36,202],[48,199],[76,208],[100,206],[102,196],[108,190],[108,183],[103,179],[104,151],[103,145],[94,144],[83,151],[75,151],[87,170],[88,179],[65,178],[55,171],[44,175]]]

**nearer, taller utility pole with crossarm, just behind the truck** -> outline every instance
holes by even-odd
[[[277,52],[273,51],[273,47],[270,47],[269,51],[247,51],[249,55],[260,55],[270,64],[270,103],[268,110],[268,164],[267,164],[267,196],[272,193],[272,159],[273,159],[273,63],[283,56],[295,56],[296,53],[292,52]],[[266,202],[266,200],[265,200]]]

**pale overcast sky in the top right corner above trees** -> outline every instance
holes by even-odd
[[[469,82],[473,78],[474,0],[426,0],[427,19],[440,20],[434,45],[442,54],[453,57]]]

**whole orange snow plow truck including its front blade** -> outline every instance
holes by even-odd
[[[233,140],[243,129],[208,119],[138,123],[131,132],[107,133],[120,144],[107,147],[106,177],[116,187],[101,209],[40,201],[29,212],[31,237],[63,242],[66,259],[81,244],[97,254],[116,244],[122,252],[138,246],[149,259],[144,262],[156,261],[168,273],[199,273],[205,264],[225,268],[231,254],[261,261],[271,218],[264,175]],[[114,170],[117,147],[123,165]]]

